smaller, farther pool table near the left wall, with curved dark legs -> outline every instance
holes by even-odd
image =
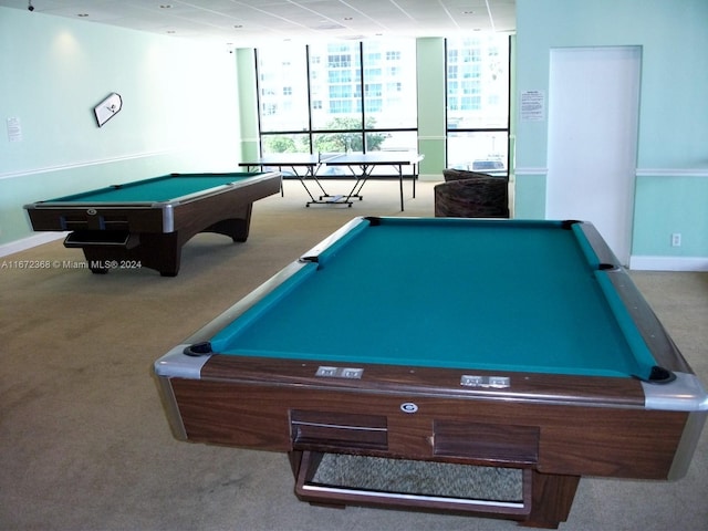
[[[67,248],[88,269],[179,272],[181,248],[199,232],[248,238],[253,201],[280,190],[279,173],[169,174],[25,205],[34,230],[71,231]]]

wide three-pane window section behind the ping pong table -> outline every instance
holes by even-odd
[[[257,51],[263,153],[416,149],[415,41]]]

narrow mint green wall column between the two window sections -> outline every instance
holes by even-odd
[[[416,40],[416,71],[418,91],[418,152],[420,177],[440,179],[446,167],[445,114],[445,40]]]

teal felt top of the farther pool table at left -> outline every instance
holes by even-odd
[[[45,202],[165,202],[260,174],[177,174],[110,186]]]

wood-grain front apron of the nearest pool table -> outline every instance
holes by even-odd
[[[170,417],[178,438],[272,451],[366,450],[388,457],[513,464],[543,473],[669,479],[683,476],[688,466],[681,450],[693,450],[696,444],[691,417],[696,415],[699,424],[705,419],[689,412],[645,409],[642,386],[632,381],[634,405],[574,404],[564,397],[554,404],[543,396],[513,399],[503,393],[494,397],[481,391],[436,388],[420,369],[416,372],[427,379],[425,386],[372,383],[372,374],[385,373],[385,366],[366,367],[365,386],[325,385],[285,373],[278,377],[268,367],[258,374],[256,360],[243,361],[243,367],[251,368],[235,376],[238,368],[223,357],[228,356],[212,356],[199,381],[162,381],[178,408]],[[228,376],[220,371],[226,364],[231,366]],[[516,379],[523,377],[539,385],[548,381],[542,375]],[[587,378],[582,379],[587,386]],[[602,386],[605,378],[597,379]],[[405,410],[408,404],[416,406],[415,413]],[[313,436],[299,416],[321,416],[323,420],[311,421],[322,426],[321,436]],[[348,420],[335,423],[333,416]],[[347,428],[337,429],[342,423]],[[506,429],[524,436],[508,437]]]

